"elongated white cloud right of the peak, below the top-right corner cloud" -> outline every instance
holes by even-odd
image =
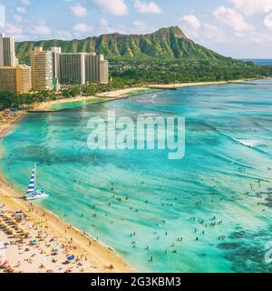
[[[229,25],[236,31],[250,31],[255,29],[253,25],[248,24],[243,15],[238,14],[234,9],[219,6],[213,15],[219,22]]]

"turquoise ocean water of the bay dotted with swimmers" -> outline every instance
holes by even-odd
[[[91,151],[87,122],[110,109],[186,117],[185,157]],[[138,271],[271,272],[271,128],[272,81],[185,87],[26,115],[1,141],[0,166],[24,193],[36,161],[51,194],[39,203]]]

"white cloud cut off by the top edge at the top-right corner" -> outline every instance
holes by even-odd
[[[267,14],[272,10],[272,0],[228,0],[243,15]]]

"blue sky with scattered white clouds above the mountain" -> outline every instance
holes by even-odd
[[[145,34],[178,25],[233,57],[272,58],[272,0],[0,0],[0,32],[17,41]]]

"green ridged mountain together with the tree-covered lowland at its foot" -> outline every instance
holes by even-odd
[[[96,52],[110,61],[113,78],[131,83],[214,81],[272,75],[271,67],[261,67],[219,55],[195,44],[177,26],[161,28],[149,35],[101,35],[83,40],[22,42],[16,55],[29,63],[34,46],[61,46],[63,52]]]

